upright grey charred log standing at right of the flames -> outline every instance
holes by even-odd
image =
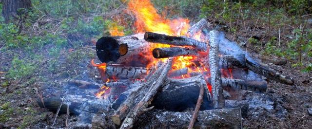
[[[210,50],[209,50],[209,68],[211,73],[211,85],[213,87],[213,102],[215,109],[224,108],[224,96],[221,86],[221,73],[219,70],[219,40],[218,31],[211,31],[210,37]]]

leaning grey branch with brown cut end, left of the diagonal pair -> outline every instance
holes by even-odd
[[[112,121],[116,125],[120,125],[121,121],[127,116],[129,111],[143,98],[143,94],[148,92],[149,87],[158,79],[164,70],[166,63],[163,63],[154,74],[152,74],[145,83],[138,85],[137,87],[128,90],[129,94],[126,95],[125,101],[118,106],[118,109],[111,116]],[[119,96],[120,98],[120,96]],[[118,99],[119,99],[118,98]],[[117,100],[118,100],[117,99]],[[116,100],[116,101],[117,101]]]

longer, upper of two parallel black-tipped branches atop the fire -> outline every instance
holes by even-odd
[[[144,39],[149,42],[169,44],[175,46],[193,46],[199,51],[208,51],[208,43],[201,42],[188,37],[174,37],[153,32],[145,32]]]

